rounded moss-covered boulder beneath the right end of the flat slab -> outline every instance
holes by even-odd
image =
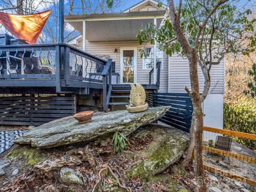
[[[136,164],[127,171],[127,177],[149,179],[163,172],[185,153],[189,145],[189,134],[174,127],[149,124],[138,129],[134,137],[147,134],[154,139],[135,156]]]

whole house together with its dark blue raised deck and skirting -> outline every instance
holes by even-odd
[[[168,57],[157,44],[139,45],[136,39],[148,23],[161,26],[166,11],[145,0],[119,13],[67,15],[66,22],[81,34],[68,44],[17,43],[0,36],[0,94],[9,94],[0,97],[0,123],[41,125],[95,107],[125,109],[130,84],[140,83],[150,105],[172,106],[162,121],[188,131],[193,111],[185,92],[190,87],[188,60]],[[147,58],[141,59],[142,49]],[[212,67],[203,103],[204,124],[220,129],[224,76],[224,62]],[[199,81],[202,91],[202,73]]]

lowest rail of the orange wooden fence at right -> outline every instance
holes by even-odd
[[[244,182],[244,183],[247,183],[248,185],[256,187],[256,181],[254,181],[252,179],[248,179],[248,178],[242,177],[242,176],[234,174],[234,173],[229,173],[227,171],[223,171],[223,170],[217,169],[217,168],[215,168],[213,166],[209,166],[209,165],[203,165],[203,168],[206,171],[210,171],[212,173],[218,173],[221,176],[225,176],[230,179],[235,179],[237,181]]]

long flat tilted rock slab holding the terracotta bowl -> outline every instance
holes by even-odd
[[[109,137],[115,132],[129,135],[138,127],[161,118],[169,108],[154,107],[140,113],[129,113],[127,110],[101,113],[85,124],[79,124],[73,116],[69,116],[32,128],[14,142],[35,148],[51,148],[89,142]]]

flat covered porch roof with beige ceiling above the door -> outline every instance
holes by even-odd
[[[93,13],[66,15],[65,21],[85,34],[89,42],[130,41],[136,40],[138,29],[144,29],[147,23],[155,23],[159,27],[164,14],[165,11]]]

